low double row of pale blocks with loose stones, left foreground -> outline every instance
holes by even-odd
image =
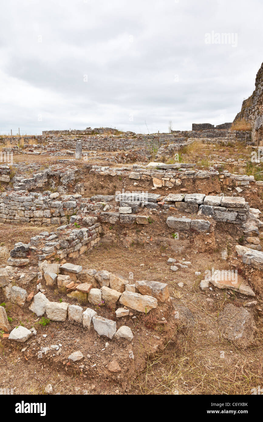
[[[1,287],[5,297],[21,308],[24,307],[26,301],[30,302],[29,309],[37,317],[46,314],[47,319],[56,322],[64,322],[68,319],[68,322],[80,324],[87,330],[93,326],[98,335],[104,335],[109,339],[132,341],[132,330],[123,325],[122,317],[129,317],[129,315],[132,317],[134,311],[148,314],[149,311],[157,308],[158,302],[170,301],[168,285],[159,281],[143,280],[134,283],[133,280],[127,280],[105,270],[83,270],[81,265],[71,263],[60,265],[43,261],[39,265],[39,271],[41,278],[38,279],[36,285],[38,293],[34,295],[34,292],[31,292],[28,295],[25,289],[12,286],[8,280],[8,272],[4,270],[1,274],[3,279]],[[42,283],[46,284],[46,288],[57,289],[61,294],[67,293],[68,298],[78,300],[83,305],[89,303],[91,307],[84,311],[79,305],[72,305],[65,301],[50,301],[44,294],[46,289]],[[114,308],[114,311],[117,308],[116,321],[98,315],[97,311],[105,305],[108,308]],[[130,309],[133,312],[130,312]],[[165,318],[163,320],[163,324],[167,323]],[[11,331],[4,308],[1,308],[0,323],[6,332]],[[23,343],[33,334],[36,334],[35,328],[28,330],[23,326],[18,326],[11,331],[9,340]],[[59,346],[51,347],[59,348]],[[38,358],[42,358],[43,354],[49,350],[48,347],[41,348]],[[74,352],[68,359],[75,361],[82,357],[81,352]]]

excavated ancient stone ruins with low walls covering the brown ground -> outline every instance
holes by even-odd
[[[79,394],[167,392],[172,368],[169,394],[260,382],[261,82],[235,119],[250,129],[1,139],[0,344],[18,373]]]

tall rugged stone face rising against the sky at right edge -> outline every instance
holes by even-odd
[[[247,100],[243,101],[241,111],[236,115],[234,122],[245,119],[251,124],[252,139],[263,135],[263,63],[258,70],[255,80],[255,91]]]

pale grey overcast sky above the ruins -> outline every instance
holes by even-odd
[[[0,133],[232,122],[263,61],[262,16],[262,0],[2,2]]]

